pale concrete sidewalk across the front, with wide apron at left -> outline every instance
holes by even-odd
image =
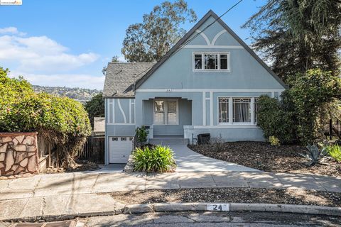
[[[186,188],[283,188],[341,192],[341,178],[271,172],[166,174],[75,172],[0,181],[0,221],[86,212],[112,214],[121,207],[106,192]],[[103,213],[104,212],[104,213]]]

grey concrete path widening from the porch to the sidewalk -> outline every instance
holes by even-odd
[[[190,150],[185,144],[168,143],[169,147],[175,153],[177,163],[177,172],[224,172],[224,171],[259,171],[243,165],[237,165],[232,162],[224,162],[211,157],[200,155]],[[245,157],[250,158],[250,157]]]

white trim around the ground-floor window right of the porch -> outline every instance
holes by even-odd
[[[219,99],[226,98],[229,99],[229,122],[219,121]],[[251,111],[251,122],[233,122],[233,99],[251,99],[250,100],[250,111]],[[254,122],[254,103],[255,99],[259,99],[259,96],[217,96],[217,126],[256,126]]]

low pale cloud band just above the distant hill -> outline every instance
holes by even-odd
[[[88,89],[103,89],[104,76],[91,74],[34,74],[11,71],[10,77],[23,75],[31,84],[50,87],[80,87]]]

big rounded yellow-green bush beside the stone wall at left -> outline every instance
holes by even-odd
[[[35,93],[25,79],[11,79],[0,67],[0,128],[6,132],[38,131],[53,148],[53,162],[73,167],[91,128],[80,102]]]

